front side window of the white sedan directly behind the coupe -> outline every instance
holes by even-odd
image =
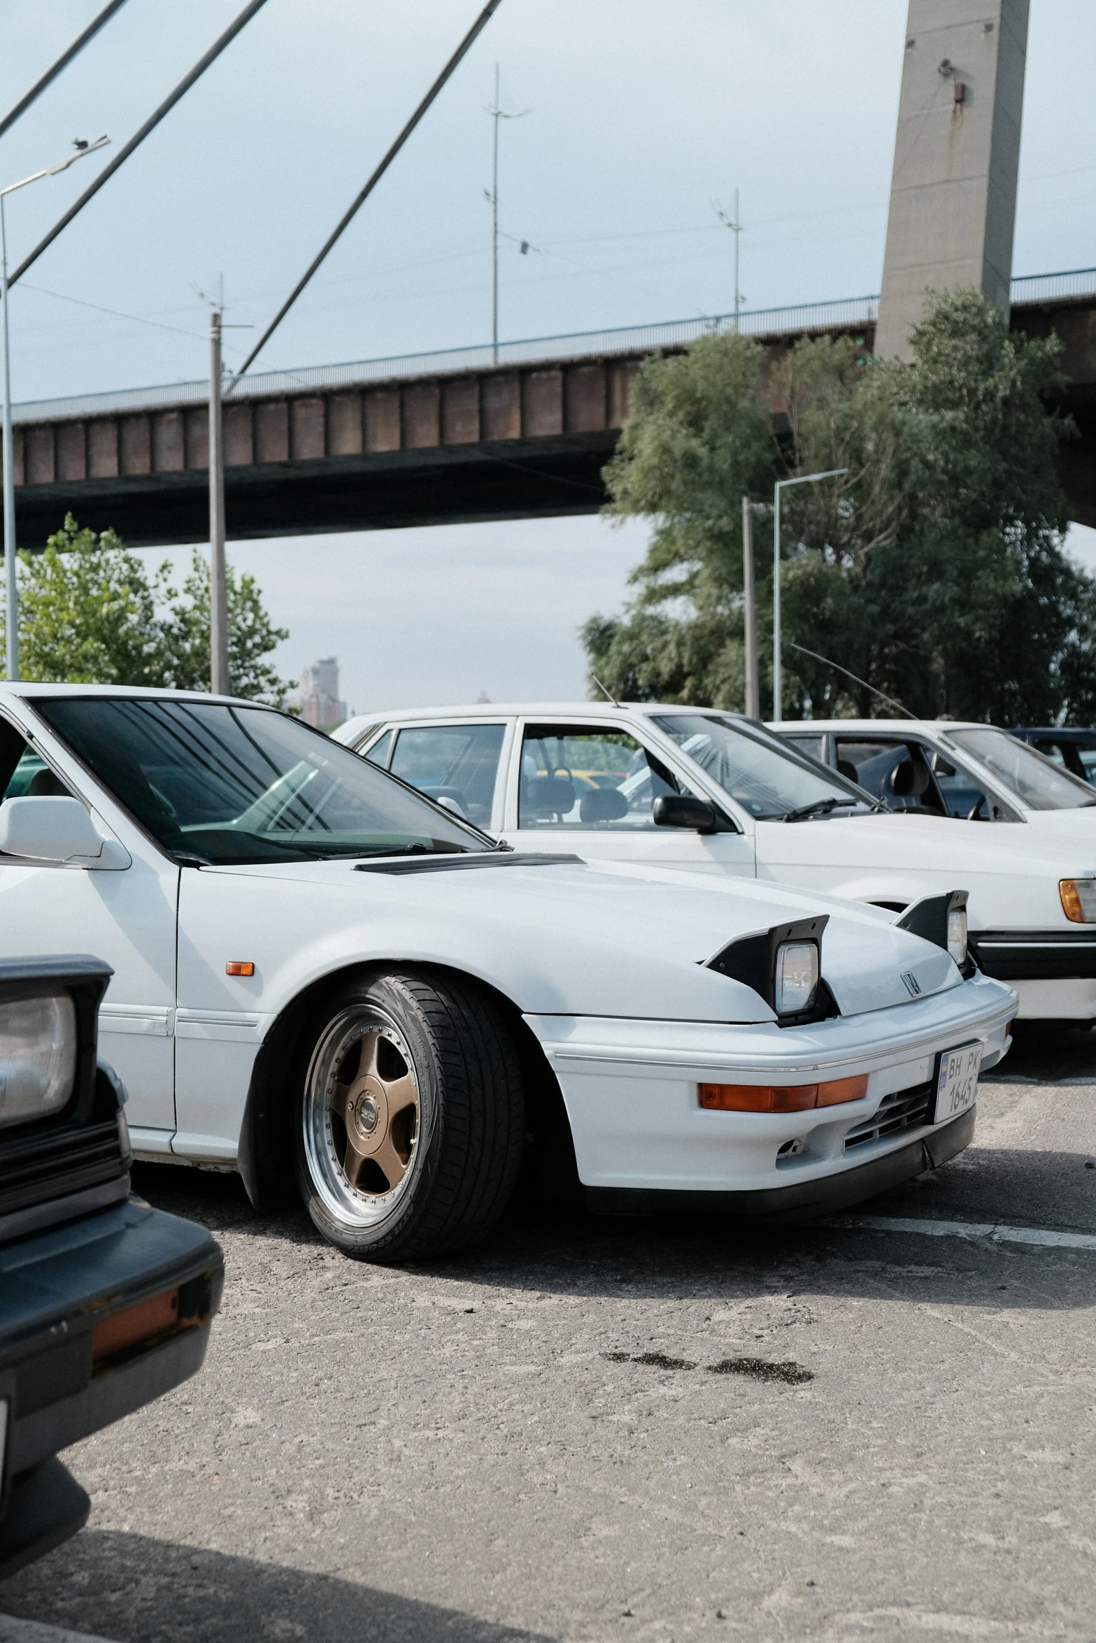
[[[654,830],[654,800],[687,789],[628,731],[527,725],[521,743],[519,828]]]

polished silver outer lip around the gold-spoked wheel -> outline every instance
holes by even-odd
[[[312,1186],[325,1211],[335,1221],[358,1231],[386,1221],[408,1196],[419,1173],[417,1142],[422,1122],[421,1101],[416,1099],[419,1119],[411,1140],[411,1157],[404,1175],[394,1188],[388,1193],[363,1193],[350,1183],[332,1132],[332,1096],[335,1094],[335,1071],[343,1061],[347,1050],[355,1042],[365,1038],[366,1033],[380,1033],[394,1045],[408,1066],[417,1098],[421,1079],[408,1040],[399,1027],[386,1010],[375,1004],[352,1004],[345,1010],[340,1010],[324,1029],[309,1061],[302,1102],[304,1155]],[[385,1124],[386,1129],[388,1125]]]

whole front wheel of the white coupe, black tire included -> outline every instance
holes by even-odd
[[[375,1262],[481,1239],[509,1201],[526,1135],[518,1052],[495,999],[447,971],[366,974],[324,1001],[304,1042],[294,1157],[324,1237]],[[386,1091],[403,1094],[386,1101]],[[389,1122],[398,1099],[409,1104]],[[394,1183],[388,1160],[404,1168]]]

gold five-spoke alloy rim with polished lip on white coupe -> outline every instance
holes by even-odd
[[[338,1015],[309,1068],[304,1142],[312,1181],[342,1221],[388,1214],[409,1183],[419,1084],[408,1045],[375,1009]]]

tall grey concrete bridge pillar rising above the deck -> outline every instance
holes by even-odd
[[[1029,0],[910,0],[876,353],[909,358],[925,291],[1009,312]]]

